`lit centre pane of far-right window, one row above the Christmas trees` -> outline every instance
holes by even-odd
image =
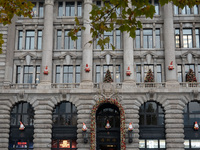
[[[192,29],[183,29],[183,47],[192,48]]]

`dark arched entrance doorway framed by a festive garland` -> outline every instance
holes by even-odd
[[[110,103],[102,104],[96,113],[96,125],[97,150],[120,150],[119,108]]]

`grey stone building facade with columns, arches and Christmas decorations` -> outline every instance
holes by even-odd
[[[117,25],[105,33],[115,51],[85,44],[91,4],[101,1],[35,0],[32,19],[0,25],[0,149],[200,149],[200,9],[151,2],[156,13],[138,18],[135,39]],[[73,42],[75,16],[86,30]],[[113,82],[103,83],[108,69]],[[189,69],[197,82],[186,82]]]

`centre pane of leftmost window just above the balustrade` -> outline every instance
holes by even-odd
[[[33,66],[24,66],[23,83],[33,83]]]

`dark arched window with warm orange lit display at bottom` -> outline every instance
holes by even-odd
[[[53,111],[52,150],[76,150],[77,109],[70,102],[58,104]]]

